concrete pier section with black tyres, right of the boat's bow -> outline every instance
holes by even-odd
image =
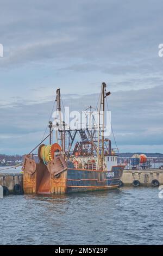
[[[137,186],[156,186],[156,181],[163,185],[163,170],[124,170],[121,180],[124,186],[133,186],[135,180],[139,181]]]

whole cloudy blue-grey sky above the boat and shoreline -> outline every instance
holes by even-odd
[[[57,88],[81,110],[96,105],[102,82],[120,152],[163,153],[161,0],[0,5],[0,154],[41,141]]]

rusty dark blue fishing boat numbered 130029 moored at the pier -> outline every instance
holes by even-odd
[[[96,109],[98,123],[91,121],[91,129],[72,129],[61,118],[61,94],[57,89],[59,118],[55,124],[49,122],[49,135],[43,140],[49,137],[49,144],[39,144],[37,159],[32,153],[24,156],[24,193],[59,195],[118,188],[125,165],[117,164],[118,149],[111,148],[110,139],[104,137],[105,101],[109,95],[102,83]],[[86,111],[93,116],[91,106]]]

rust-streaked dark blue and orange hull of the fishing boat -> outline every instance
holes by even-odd
[[[119,186],[123,168],[124,166],[115,166],[112,167],[110,172],[68,168],[60,173],[58,178],[52,174],[45,175],[44,171],[42,179],[40,179],[39,168],[37,168],[34,174],[24,172],[23,188],[25,193],[40,194],[65,194],[93,190],[111,190]],[[46,172],[48,171],[46,170]],[[46,188],[42,187],[41,184],[46,184]]]

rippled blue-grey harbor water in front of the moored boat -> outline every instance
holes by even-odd
[[[162,245],[158,188],[0,199],[1,245]]]

